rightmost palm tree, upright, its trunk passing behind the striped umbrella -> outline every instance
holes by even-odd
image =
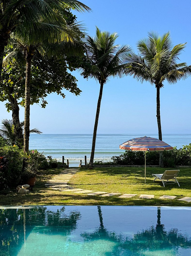
[[[149,81],[155,84],[157,90],[157,124],[158,137],[162,140],[160,121],[160,89],[163,82],[176,83],[181,78],[186,79],[191,74],[191,66],[185,62],[177,63],[181,51],[185,44],[172,46],[170,33],[159,36],[155,32],[148,33],[148,38],[144,38],[137,43],[139,54],[130,53],[128,55],[128,73],[133,75],[138,81]],[[163,167],[162,152],[160,152],[159,165]]]

